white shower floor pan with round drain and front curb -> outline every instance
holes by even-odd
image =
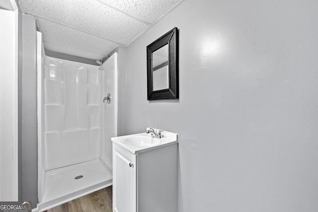
[[[45,211],[81,196],[112,185],[112,172],[95,159],[45,172],[43,200],[39,211]]]

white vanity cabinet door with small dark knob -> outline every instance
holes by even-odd
[[[113,210],[136,212],[137,155],[113,143]]]

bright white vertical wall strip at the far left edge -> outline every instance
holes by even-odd
[[[17,18],[0,8],[0,201],[18,200]]]

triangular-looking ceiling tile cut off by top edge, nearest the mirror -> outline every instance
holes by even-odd
[[[103,0],[136,18],[154,23],[180,0]]]

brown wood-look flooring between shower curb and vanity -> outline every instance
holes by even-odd
[[[44,212],[112,212],[112,188],[103,188]]]

